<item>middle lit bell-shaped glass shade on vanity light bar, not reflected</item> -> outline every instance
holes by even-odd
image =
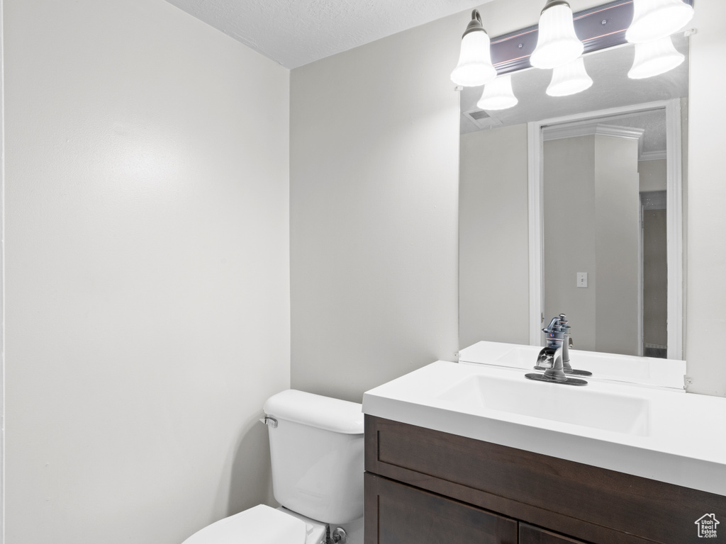
[[[582,54],[584,46],[575,35],[572,9],[565,1],[548,0],[539,16],[537,47],[529,62],[537,68],[566,65]]]

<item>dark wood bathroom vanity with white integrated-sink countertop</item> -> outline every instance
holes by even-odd
[[[438,361],[364,395],[366,544],[726,541],[726,399],[523,372]]]

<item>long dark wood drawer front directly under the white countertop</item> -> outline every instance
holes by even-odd
[[[365,433],[367,471],[592,543],[696,543],[703,514],[726,520],[721,495],[372,416]]]

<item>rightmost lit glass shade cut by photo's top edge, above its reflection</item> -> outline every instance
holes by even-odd
[[[625,31],[631,44],[665,38],[693,18],[693,7],[683,0],[633,0],[633,22]]]

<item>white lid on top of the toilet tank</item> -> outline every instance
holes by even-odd
[[[363,411],[359,403],[286,390],[272,395],[264,405],[268,416],[341,434],[363,434]]]

